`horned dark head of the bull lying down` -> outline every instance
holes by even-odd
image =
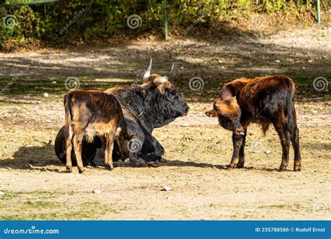
[[[169,81],[174,64],[166,75],[151,74],[152,59],[143,76],[144,83],[140,86],[140,94],[144,105],[149,106],[149,119],[154,127],[161,127],[175,120],[177,117],[187,115],[189,106],[179,96],[175,87]]]

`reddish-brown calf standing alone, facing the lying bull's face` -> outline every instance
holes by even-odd
[[[227,83],[214,100],[214,109],[206,112],[209,117],[219,117],[219,124],[233,131],[233,157],[230,168],[244,166],[244,146],[247,126],[257,123],[265,133],[274,125],[281,140],[280,171],[286,170],[290,142],[294,148],[294,171],[301,170],[299,130],[294,108],[295,85],[285,76],[240,78]]]

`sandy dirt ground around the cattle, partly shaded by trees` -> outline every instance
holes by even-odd
[[[191,107],[189,115],[153,133],[165,148],[165,166],[113,171],[87,167],[81,175],[77,168],[64,173],[54,153],[54,138],[64,123],[61,92],[45,87],[38,94],[1,96],[0,219],[331,219],[331,102],[325,94],[298,94],[301,172],[292,171],[293,150],[288,171],[277,170],[277,133],[270,129],[263,137],[256,125],[248,131],[245,168],[226,169],[232,154],[230,132],[205,117],[209,94],[221,87],[210,86],[212,78],[291,72],[311,81],[330,79],[330,39],[330,28],[301,29],[256,36],[254,43],[138,41],[120,48],[0,53],[0,77],[7,81],[17,72],[16,84],[75,76],[88,87],[88,78],[93,84],[130,81],[145,66],[140,54],[148,59],[148,51],[159,52],[167,64],[180,62],[178,88]],[[243,59],[235,47],[247,49]],[[155,68],[165,72],[168,65],[157,59],[161,57],[156,57]],[[184,82],[194,75],[205,80],[205,88],[190,92]],[[44,92],[50,96],[43,98]],[[161,191],[163,187],[171,190]],[[93,193],[96,189],[101,194]]]

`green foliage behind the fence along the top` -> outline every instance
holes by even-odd
[[[17,3],[7,0],[6,3]],[[31,1],[31,0],[29,0]],[[315,2],[315,1],[314,1]],[[168,19],[171,29],[183,29],[194,21],[210,27],[214,22],[237,19],[251,12],[301,12],[315,7],[308,0],[168,0]],[[323,3],[328,8],[330,3]],[[61,1],[47,5],[0,8],[1,19],[11,14],[17,17],[15,27],[7,29],[0,22],[0,46],[8,41],[29,43],[67,43],[91,41],[112,36],[121,31],[127,34],[145,32],[162,34],[163,1],[161,0],[95,0]],[[126,20],[139,15],[141,27],[130,29]]]

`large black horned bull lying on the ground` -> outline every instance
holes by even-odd
[[[117,96],[122,106],[128,133],[135,133],[130,144],[127,145],[126,153],[120,154],[117,144],[114,145],[112,154],[114,166],[139,167],[163,164],[165,162],[165,159],[162,158],[164,149],[152,136],[152,132],[155,128],[186,115],[189,111],[189,106],[169,81],[172,68],[163,76],[151,74],[151,68],[152,59],[143,75],[141,85],[114,87],[106,91]],[[55,141],[57,155],[65,150],[64,131],[66,129],[59,131]],[[91,153],[87,154],[87,157],[83,157],[86,164],[91,164],[94,159],[94,150],[100,147],[97,141],[94,142],[96,143],[89,145]],[[85,143],[86,145],[87,143]],[[84,152],[84,143],[82,152]],[[126,158],[129,158],[130,161],[124,161]],[[59,157],[59,159],[66,163],[66,157]]]

